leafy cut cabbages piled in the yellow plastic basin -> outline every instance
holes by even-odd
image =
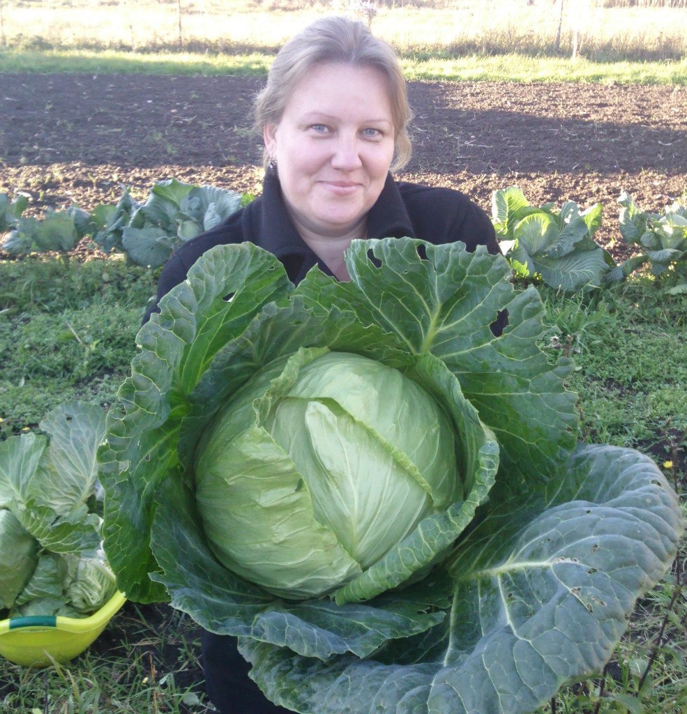
[[[0,442],[0,619],[86,617],[116,591],[101,548],[99,406],[74,402]]]

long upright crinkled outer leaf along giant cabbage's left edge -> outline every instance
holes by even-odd
[[[189,280],[161,301],[161,314],[141,328],[143,349],[119,391],[124,414],[109,415],[99,456],[108,497],[106,553],[119,588],[141,601],[166,598],[148,580],[158,567],[149,548],[153,497],[156,486],[177,473],[189,396],[217,351],[266,303],[293,288],[266,251],[250,244],[222,247],[191,268]]]

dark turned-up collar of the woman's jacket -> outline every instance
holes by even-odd
[[[265,174],[262,196],[254,202],[254,206],[259,211],[254,215],[257,225],[254,231],[251,231],[254,233],[254,240],[257,245],[284,263],[292,282],[299,283],[315,265],[327,275],[331,275],[329,268],[319,260],[296,231],[289,211],[286,210],[279,177],[275,171],[267,171]],[[391,174],[386,176],[379,198],[368,213],[367,235],[368,238],[415,237],[408,211]]]

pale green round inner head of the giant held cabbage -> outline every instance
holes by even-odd
[[[221,563],[284,598],[353,580],[462,501],[451,421],[368,357],[299,349],[221,408],[196,451],[196,503]]]

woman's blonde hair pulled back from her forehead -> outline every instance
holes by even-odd
[[[279,50],[267,76],[267,84],[254,104],[256,131],[262,133],[265,126],[277,126],[296,84],[309,69],[325,62],[373,67],[382,72],[388,87],[395,129],[391,169],[402,169],[411,158],[408,124],[413,114],[401,66],[390,45],[373,36],[363,22],[346,17],[330,16],[316,20]],[[263,151],[263,163],[265,168],[269,164],[266,149]]]

